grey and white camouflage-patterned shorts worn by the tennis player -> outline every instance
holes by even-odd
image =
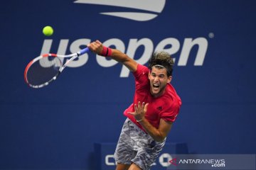
[[[164,144],[165,140],[155,142],[150,135],[127,118],[114,152],[114,159],[119,164],[134,163],[141,169],[148,170],[154,164]]]

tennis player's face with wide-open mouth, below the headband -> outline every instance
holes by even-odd
[[[167,77],[167,71],[165,68],[158,69],[156,67],[152,67],[151,72],[149,72],[151,95],[159,97],[164,94],[166,84],[171,82],[171,78],[171,76]]]

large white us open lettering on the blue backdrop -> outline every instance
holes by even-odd
[[[68,49],[68,42],[68,39],[60,40],[57,52],[58,54],[66,54],[66,51]],[[87,45],[90,42],[91,40],[86,38],[75,40],[70,45],[70,52],[78,52],[79,50],[82,50],[81,46],[85,47],[85,45]],[[53,40],[44,40],[41,54],[49,53],[52,43]],[[151,57],[151,53],[154,51],[164,50],[166,52],[169,52],[170,55],[174,55],[176,54],[176,52],[178,52],[178,50],[181,50],[181,55],[177,59],[177,66],[186,66],[192,48],[197,45],[198,50],[196,52],[194,66],[202,66],[208,49],[208,40],[206,38],[185,38],[182,47],[181,43],[176,38],[165,38],[156,45],[155,49],[153,41],[149,38],[130,39],[127,45],[127,50],[125,50],[124,42],[122,40],[119,40],[118,38],[111,38],[102,43],[106,46],[116,47],[118,50],[126,53],[132,59],[134,59],[137,49],[143,46],[144,52],[142,53],[142,56],[140,56],[136,60],[139,64],[146,64],[146,62],[148,62],[149,58]],[[70,64],[68,64],[68,67],[81,67],[87,63],[88,59],[88,54],[85,53],[85,55],[81,55],[80,57],[78,57],[78,60],[70,62]],[[115,60],[109,60],[105,57],[100,57],[98,55],[96,56],[96,61],[102,67],[113,67],[115,64],[117,64],[117,61]],[[174,61],[176,61],[175,58]],[[127,69],[127,67],[122,67],[120,77],[129,77],[129,69]]]

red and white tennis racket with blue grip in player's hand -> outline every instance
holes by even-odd
[[[57,79],[63,69],[68,65],[68,63],[75,60],[80,55],[85,54],[89,51],[86,47],[79,52],[73,53],[71,55],[56,55],[56,54],[44,54],[36,57],[31,62],[28,63],[24,72],[24,79],[28,86],[33,88],[41,88],[47,86],[53,80]],[[63,64],[63,58],[69,58]]]

